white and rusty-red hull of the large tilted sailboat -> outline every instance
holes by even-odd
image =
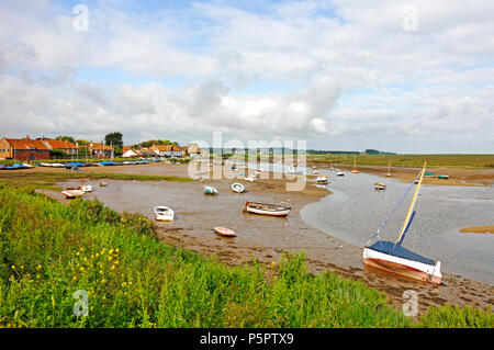
[[[408,279],[434,284],[440,284],[442,279],[440,261],[436,261],[435,264],[427,264],[364,248],[363,263]]]

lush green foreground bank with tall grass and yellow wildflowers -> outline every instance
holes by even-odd
[[[303,256],[228,268],[160,244],[153,223],[0,184],[0,327],[409,327],[385,295]],[[76,317],[76,291],[89,316]],[[435,308],[418,326],[492,327],[492,312]]]

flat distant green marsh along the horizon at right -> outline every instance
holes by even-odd
[[[307,161],[333,162],[335,166],[385,166],[419,168],[427,161],[428,168],[494,168],[494,155],[307,155]]]

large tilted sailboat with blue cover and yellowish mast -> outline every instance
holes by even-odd
[[[415,202],[418,196],[418,190],[424,178],[425,169],[427,162],[424,165],[423,170],[417,176],[418,184],[415,188],[415,193],[412,199],[411,206],[406,214],[405,222],[403,223],[402,229],[395,242],[388,240],[378,240],[373,245],[367,245],[363,248],[363,263],[366,266],[381,269],[388,272],[396,273],[409,279],[429,282],[434,284],[441,283],[441,262],[438,260],[433,260],[419,256],[402,246],[403,239],[412,224],[415,216]],[[408,188],[403,197],[400,200],[398,204],[393,208],[390,216],[381,224],[378,230],[372,235],[370,241],[379,235],[379,232],[386,224],[388,219],[394,214],[395,210],[405,199],[406,194],[413,188],[414,183]]]

